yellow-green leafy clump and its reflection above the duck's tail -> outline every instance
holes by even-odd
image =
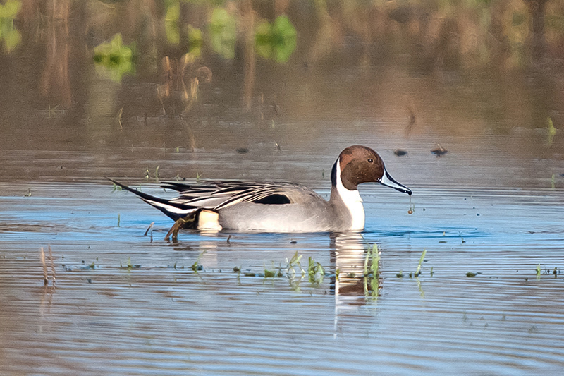
[[[123,45],[121,34],[116,34],[111,42],[94,48],[94,62],[99,71],[119,83],[125,73],[133,71],[133,50]]]

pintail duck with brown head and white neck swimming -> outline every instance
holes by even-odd
[[[180,193],[166,200],[111,181],[175,221],[189,219],[190,228],[216,231],[360,231],[364,229],[364,206],[357,190],[360,183],[381,183],[412,193],[393,180],[374,150],[360,145],[347,147],[333,164],[329,201],[295,183],[166,182],[161,187]]]

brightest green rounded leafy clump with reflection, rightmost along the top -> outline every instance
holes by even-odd
[[[263,21],[257,26],[255,35],[257,53],[266,59],[286,63],[295,49],[296,35],[288,16],[278,16],[272,24]]]

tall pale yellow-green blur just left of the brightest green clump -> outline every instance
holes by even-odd
[[[235,17],[226,9],[215,8],[209,18],[208,30],[212,49],[226,59],[233,59],[235,57],[235,40],[237,39]]]

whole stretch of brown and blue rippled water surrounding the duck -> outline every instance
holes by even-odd
[[[322,9],[295,1],[288,62],[250,63],[240,41],[229,59],[204,44],[178,78],[161,65],[185,52],[159,29],[165,12],[109,3],[61,1],[70,13],[59,17],[24,7],[20,46],[1,50],[0,374],[562,372],[559,71],[509,59],[500,68],[493,55],[450,68],[435,56],[422,68],[419,49],[402,49],[415,28],[370,24],[396,42],[355,34],[367,11],[343,3],[342,17],[325,9],[331,34]],[[212,8],[182,4],[205,33]],[[90,54],[118,31],[140,52],[116,80]],[[340,42],[321,37],[338,32]],[[555,38],[547,29],[551,51]],[[186,102],[197,67],[213,79]],[[407,195],[364,184],[361,234],[182,231],[171,243],[167,217],[104,179],[164,197],[158,181],[275,179],[328,197],[331,166],[353,144],[377,150],[413,190],[413,214]],[[431,154],[437,144],[448,153]],[[374,244],[379,278],[365,279]],[[310,257],[324,275],[309,277]]]

